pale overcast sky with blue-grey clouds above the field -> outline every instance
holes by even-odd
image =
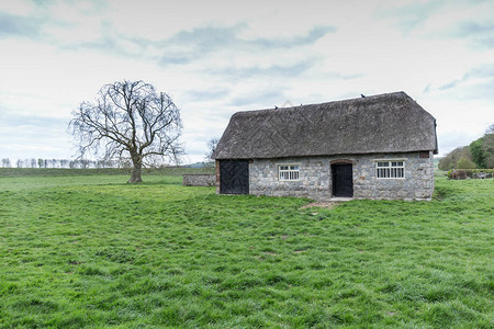
[[[494,123],[494,0],[1,1],[0,158],[70,158],[70,112],[144,80],[181,109],[186,162],[244,110],[405,91],[440,155]]]

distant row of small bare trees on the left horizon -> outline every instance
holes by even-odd
[[[68,160],[68,159],[18,159],[11,161],[10,158],[3,158],[0,162],[3,168],[131,168],[132,163],[127,159],[120,160]]]

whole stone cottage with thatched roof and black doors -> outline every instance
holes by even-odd
[[[404,92],[235,113],[212,158],[222,194],[430,200],[436,120]]]

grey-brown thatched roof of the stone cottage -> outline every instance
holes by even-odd
[[[434,150],[436,120],[404,92],[235,113],[213,159]]]

